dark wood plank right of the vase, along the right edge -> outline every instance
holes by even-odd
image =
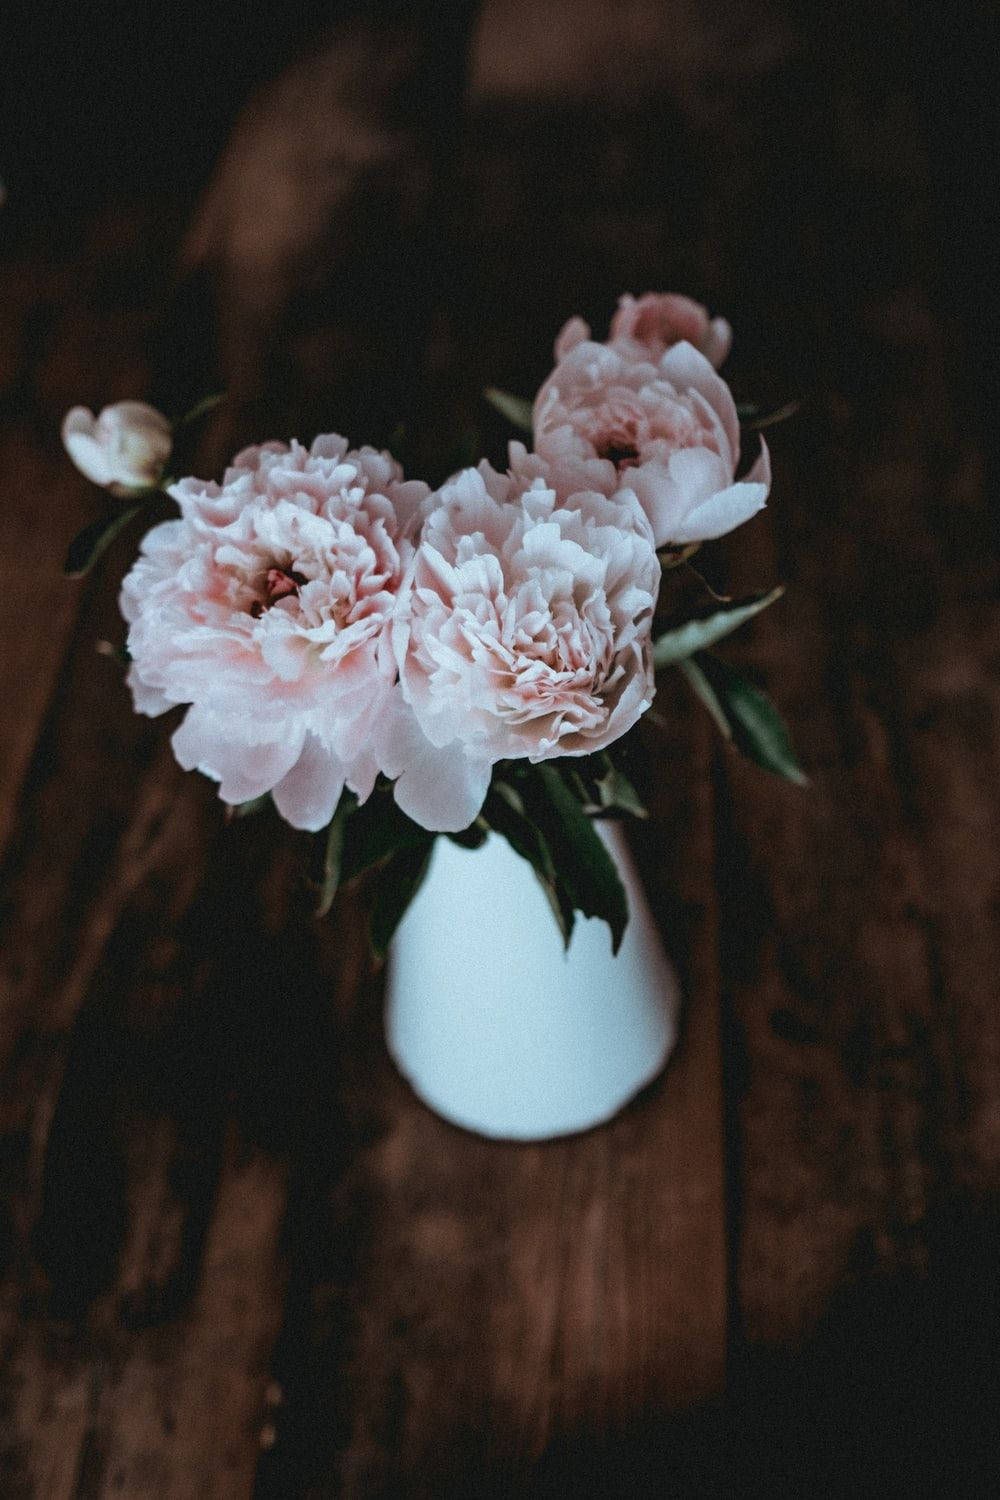
[[[789,584],[726,654],[813,777],[802,795],[727,762],[720,783],[730,1396],[741,1466],[775,1491],[885,1474],[927,1492],[973,1455],[996,1472],[999,576],[961,357],[922,284],[912,102],[892,63],[888,98],[850,94],[852,66],[801,102],[837,162],[826,198],[783,207],[796,117],[762,126],[744,190],[780,249],[729,234],[762,316],[787,296],[799,324],[750,348],[759,384],[805,386],[802,324],[825,340],[819,388],[774,434],[768,519],[726,549],[738,586]]]

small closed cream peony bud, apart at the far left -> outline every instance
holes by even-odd
[[[73,406],[63,442],[81,474],[117,495],[159,484],[172,444],[171,424],[144,400],[118,400],[99,417]]]

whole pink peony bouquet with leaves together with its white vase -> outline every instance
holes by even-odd
[[[171,482],[153,408],[64,422],[118,501],[70,573],[163,492],[178,512],[121,585],[136,710],[183,705],[184,770],[319,836],[319,914],[370,873],[393,1053],[489,1134],[607,1118],[670,1048],[672,975],[613,824],[645,816],[630,730],[655,672],[679,668],[739,750],[802,780],[774,706],[708,650],[781,591],[675,602],[700,543],[768,496],[763,438],[741,472],[741,416],[768,418],[717,374],[729,344],[679,296],[624,297],[603,344],[573,318],[534,405],[486,393],[531,446],[433,490],[336,435]]]

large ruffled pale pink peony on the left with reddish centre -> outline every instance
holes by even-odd
[[[396,681],[387,626],[429,494],[373,448],[247,448],[222,484],[171,488],[124,579],[135,706],[189,704],[172,738],[226,802],[271,792],[322,828],[346,784],[367,796],[372,735]]]

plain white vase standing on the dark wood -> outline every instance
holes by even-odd
[[[597,824],[628,896],[577,916],[568,951],[531,867],[505,838],[438,838],[390,954],[385,1034],[399,1071],[445,1119],[546,1140],[610,1119],[667,1060],[678,987],[621,828]]]

